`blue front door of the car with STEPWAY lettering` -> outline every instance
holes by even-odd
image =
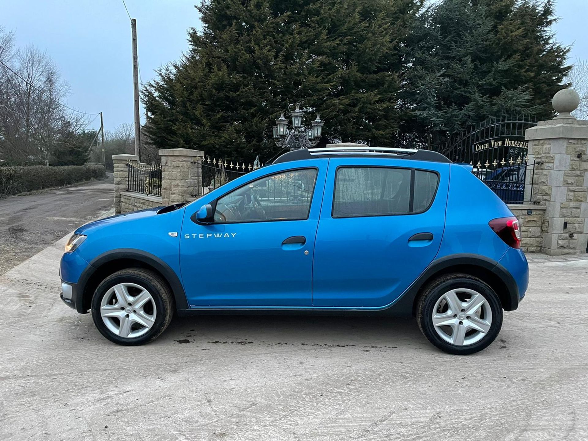
[[[189,305],[311,305],[327,165],[314,159],[269,166],[188,206],[180,265]],[[205,203],[215,209],[210,225],[193,216]]]

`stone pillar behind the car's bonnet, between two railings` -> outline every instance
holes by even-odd
[[[204,152],[192,149],[161,149],[161,198],[163,205],[186,202],[202,186]]]

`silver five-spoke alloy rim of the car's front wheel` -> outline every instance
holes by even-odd
[[[112,333],[122,338],[144,335],[155,323],[157,310],[148,290],[136,283],[119,283],[102,297],[100,315]]]

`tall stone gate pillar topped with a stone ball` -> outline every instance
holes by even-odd
[[[570,115],[580,102],[572,89],[553,96],[558,115],[527,129],[527,161],[536,162],[533,202],[546,206],[542,251],[585,253],[588,242],[588,121]]]

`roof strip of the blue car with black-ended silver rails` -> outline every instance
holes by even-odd
[[[369,146],[353,146],[353,147],[321,147],[310,149],[298,149],[291,152],[284,153],[278,156],[273,161],[273,164],[279,164],[290,161],[300,161],[301,159],[316,159],[316,158],[390,158],[390,159],[412,159],[413,161],[427,161],[427,162],[445,162],[451,163],[446,156],[441,153],[430,150],[421,149],[396,149],[388,147],[369,147]]]

